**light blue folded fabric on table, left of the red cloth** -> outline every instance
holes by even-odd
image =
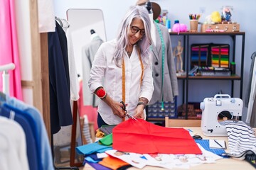
[[[103,153],[107,150],[112,149],[112,147],[100,145],[98,142],[82,145],[75,148],[78,154],[92,154],[92,153]]]

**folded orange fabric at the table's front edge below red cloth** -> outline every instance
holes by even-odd
[[[127,162],[111,156],[103,158],[102,161],[99,162],[99,164],[106,166],[110,169],[118,169],[121,166],[129,165]]]

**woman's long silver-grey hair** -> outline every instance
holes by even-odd
[[[114,62],[120,67],[122,57],[124,56],[125,47],[129,44],[128,31],[134,18],[141,18],[144,23],[145,35],[137,42],[141,52],[142,61],[149,63],[149,47],[151,45],[151,21],[149,13],[144,6],[131,6],[125,14],[117,31],[117,47],[114,51]]]

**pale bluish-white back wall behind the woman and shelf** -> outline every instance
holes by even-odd
[[[65,11],[68,8],[99,8],[103,11],[105,18],[105,27],[107,40],[111,40],[115,37],[117,32],[117,27],[124,16],[125,11],[128,7],[136,4],[136,0],[131,1],[119,1],[119,0],[98,0],[98,1],[69,1],[69,0],[55,0],[55,15],[65,18]],[[256,21],[252,16],[256,16],[255,0],[225,0],[225,1],[211,1],[211,0],[161,0],[154,1],[161,6],[161,9],[166,9],[169,11],[168,18],[171,19],[171,26],[174,24],[174,20],[179,20],[180,23],[185,23],[188,26],[188,13],[201,13],[204,9],[203,16],[201,16],[201,22],[204,18],[213,11],[221,12],[221,7],[225,5],[230,5],[234,7],[233,11],[233,21],[238,21],[240,23],[240,30],[245,31],[245,69],[244,69],[244,81],[243,81],[243,97],[245,98],[245,91],[247,89],[248,77],[250,72],[250,56],[252,52],[256,51],[255,45],[255,26]],[[81,16],[81,19],[86,19],[87,16]],[[90,16],[89,16],[90,17]],[[238,54],[240,54],[239,46],[237,47]],[[240,63],[237,63],[239,67]],[[210,97],[210,96],[203,96]],[[246,113],[246,108],[244,113]]]

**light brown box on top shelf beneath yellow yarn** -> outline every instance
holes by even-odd
[[[218,33],[218,32],[239,32],[239,23],[215,23],[215,24],[203,24],[201,32],[203,33]]]

